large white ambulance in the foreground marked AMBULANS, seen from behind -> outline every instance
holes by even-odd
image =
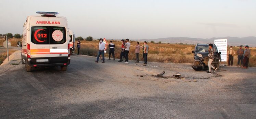
[[[56,12],[36,12],[23,24],[22,64],[26,71],[41,66],[61,66],[70,63],[69,34],[66,17]]]

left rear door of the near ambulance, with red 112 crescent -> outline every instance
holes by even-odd
[[[30,56],[31,64],[50,62],[49,17],[30,18]]]

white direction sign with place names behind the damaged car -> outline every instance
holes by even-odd
[[[218,51],[221,52],[221,62],[227,62],[227,48],[228,48],[228,39],[217,39],[214,40],[214,44],[216,45]]]

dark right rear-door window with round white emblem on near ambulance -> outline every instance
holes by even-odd
[[[65,27],[50,26],[50,44],[63,44],[66,40]]]

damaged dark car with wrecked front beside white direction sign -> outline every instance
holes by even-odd
[[[209,53],[208,53],[209,45],[208,44],[199,44],[197,43],[194,51],[194,63],[192,68],[196,71],[204,70],[208,67]],[[214,60],[212,62],[212,66],[217,67],[219,69],[219,65],[221,62],[220,54],[215,44],[213,44],[214,50]]]

